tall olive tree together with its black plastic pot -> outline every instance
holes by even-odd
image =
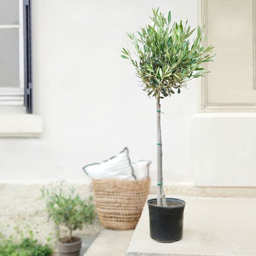
[[[181,240],[185,201],[166,198],[163,190],[162,138],[160,99],[178,94],[186,88],[187,82],[202,77],[207,71],[202,66],[212,60],[213,46],[204,47],[206,40],[204,24],[197,27],[196,36],[191,42],[191,29],[188,21],[171,24],[171,12],[165,18],[159,9],[153,9],[151,25],[140,28],[137,35],[128,33],[134,44],[136,60],[128,49],[121,55],[129,59],[141,79],[143,90],[156,98],[157,114],[157,198],[148,201],[150,213],[150,234],[159,242]]]

